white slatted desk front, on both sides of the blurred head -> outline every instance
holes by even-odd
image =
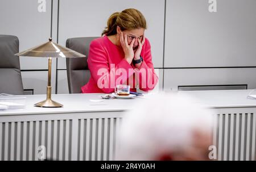
[[[215,115],[217,160],[255,160],[256,114]],[[0,160],[114,160],[122,118],[0,122]]]

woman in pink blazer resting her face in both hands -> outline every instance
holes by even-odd
[[[130,8],[108,19],[102,37],[90,44],[88,67],[91,78],[82,93],[112,93],[116,85],[130,85],[130,91],[152,90],[158,82],[152,64],[150,42],[142,13]]]

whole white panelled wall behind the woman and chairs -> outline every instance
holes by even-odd
[[[217,12],[209,12],[209,5],[208,0],[46,0],[46,12],[39,12],[35,0],[1,0],[0,34],[18,36],[20,51],[50,36],[65,46],[67,38],[100,36],[113,12],[137,8],[147,19],[160,88],[256,88],[256,1],[217,0]],[[45,94],[47,59],[21,57],[20,66],[24,89]],[[68,93],[65,69],[65,59],[53,59],[53,92]]]

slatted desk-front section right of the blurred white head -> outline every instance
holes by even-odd
[[[218,160],[255,159],[255,113],[218,114],[214,141]]]

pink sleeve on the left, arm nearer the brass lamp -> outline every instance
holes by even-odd
[[[115,83],[123,84],[133,75],[129,70],[133,67],[125,59],[117,65],[109,64],[108,53],[98,41],[92,41],[90,44],[88,67],[92,79],[104,93],[114,92]],[[122,75],[117,75],[118,73]]]

